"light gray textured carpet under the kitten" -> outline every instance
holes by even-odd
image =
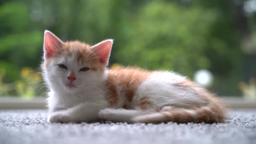
[[[44,110],[0,110],[0,144],[256,144],[256,110],[224,124],[49,124]]]

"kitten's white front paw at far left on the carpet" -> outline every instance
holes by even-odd
[[[70,117],[62,113],[53,113],[48,117],[49,123],[69,123]]]

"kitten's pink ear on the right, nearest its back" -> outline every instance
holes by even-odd
[[[109,61],[110,51],[112,48],[113,40],[104,40],[101,43],[93,45],[92,49],[96,56],[99,57],[101,64],[107,65]]]

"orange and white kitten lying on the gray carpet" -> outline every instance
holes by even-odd
[[[107,69],[113,40],[96,45],[44,34],[50,123],[223,123],[224,107],[204,88],[168,71]]]

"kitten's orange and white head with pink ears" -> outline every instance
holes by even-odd
[[[104,80],[113,40],[96,45],[62,42],[49,31],[44,34],[45,80],[54,91],[76,92],[93,88]]]

